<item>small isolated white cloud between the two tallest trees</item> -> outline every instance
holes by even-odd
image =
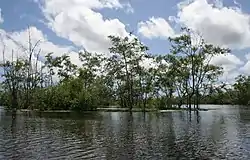
[[[151,17],[138,24],[138,33],[146,38],[168,38],[175,34],[169,23],[163,18]]]

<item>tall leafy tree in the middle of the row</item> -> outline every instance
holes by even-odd
[[[142,96],[136,93],[136,81],[142,86],[140,81],[143,69],[140,67],[143,57],[146,56],[148,48],[138,39],[129,39],[109,36],[112,46],[110,53],[112,56],[107,59],[106,69],[110,80],[113,80],[114,88],[117,88],[121,105],[132,110],[136,104],[135,97]],[[141,89],[140,89],[141,91]]]

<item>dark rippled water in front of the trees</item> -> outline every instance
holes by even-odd
[[[250,110],[11,115],[0,159],[250,159]]]

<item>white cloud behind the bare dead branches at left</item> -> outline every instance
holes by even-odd
[[[75,56],[78,54],[72,51],[72,47],[56,45],[48,41],[46,35],[44,35],[36,27],[30,27],[25,30],[16,32],[6,32],[0,30],[1,41],[0,41],[0,52],[5,51],[5,58],[7,60],[12,59],[12,52],[14,53],[13,58],[27,58],[29,53],[29,35],[30,42],[32,44],[31,48],[34,48],[37,42],[38,45],[35,47],[33,59],[35,59],[37,53],[40,51],[40,57],[44,57],[46,54],[53,52],[55,56],[61,56],[63,54],[69,54],[73,60],[73,63],[78,64]],[[5,46],[5,47],[4,47]],[[2,61],[2,56],[0,60]]]

